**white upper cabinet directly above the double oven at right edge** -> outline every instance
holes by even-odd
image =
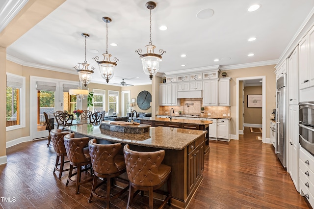
[[[299,89],[314,86],[314,27],[299,43]]]

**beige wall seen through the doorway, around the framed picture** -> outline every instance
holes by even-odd
[[[262,86],[245,86],[244,87],[244,123],[262,125],[262,108],[247,107],[247,95],[258,95],[258,94],[262,94]]]

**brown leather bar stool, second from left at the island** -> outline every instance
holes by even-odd
[[[70,172],[65,186],[68,186],[69,182],[76,183],[76,194],[78,194],[79,185],[93,181],[92,178],[86,178],[82,181],[80,180],[83,171],[90,169],[90,172],[92,173],[92,165],[88,151],[89,138],[74,138],[74,133],[69,133],[65,135],[63,139],[65,150],[67,151],[70,160]],[[86,165],[90,165],[90,167],[86,167]],[[73,173],[73,166],[77,166],[78,171],[76,173]],[[82,166],[85,166],[85,168],[82,169]],[[77,175],[76,180],[72,180],[72,177],[75,175]]]

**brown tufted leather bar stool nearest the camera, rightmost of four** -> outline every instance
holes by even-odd
[[[165,151],[137,152],[130,150],[129,145],[123,148],[127,175],[130,181],[128,205],[131,206],[134,189],[149,191],[149,208],[153,209],[153,191],[166,195],[159,209],[164,208],[167,201],[171,205],[171,167],[161,164]],[[168,192],[157,190],[167,183]],[[137,191],[136,191],[137,192]],[[135,193],[136,194],[136,193]]]

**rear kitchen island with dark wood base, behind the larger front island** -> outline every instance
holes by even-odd
[[[204,138],[204,154],[209,152],[209,124],[212,121],[193,120],[193,119],[179,119],[179,118],[158,118],[158,117],[143,117],[138,118],[141,124],[151,125],[153,127],[173,127],[190,130],[207,131]]]

